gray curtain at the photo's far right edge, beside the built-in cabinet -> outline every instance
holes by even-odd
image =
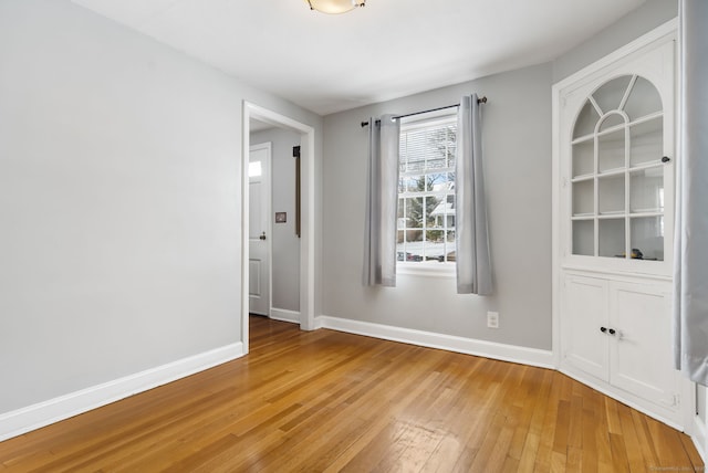
[[[680,0],[680,153],[674,272],[676,367],[708,383],[708,1]]]

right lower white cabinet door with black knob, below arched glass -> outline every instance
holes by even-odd
[[[676,408],[670,285],[613,282],[610,291],[610,382],[664,408]]]

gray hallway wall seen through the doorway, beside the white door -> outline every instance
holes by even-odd
[[[292,147],[300,135],[272,128],[251,134],[251,145],[271,143],[272,180],[272,301],[273,308],[300,312],[300,239],[295,234],[295,159]],[[288,212],[285,223],[275,223],[275,212]]]

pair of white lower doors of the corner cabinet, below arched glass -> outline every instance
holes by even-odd
[[[562,367],[621,389],[662,418],[678,421],[671,284],[583,272],[566,272],[562,284]]]

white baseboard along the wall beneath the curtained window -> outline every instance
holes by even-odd
[[[321,315],[315,319],[316,328],[331,328],[356,335],[366,335],[385,340],[402,341],[429,348],[438,348],[466,355],[476,355],[502,361],[519,362],[555,369],[553,353],[538,348],[525,348],[494,341],[478,340],[454,335],[436,334],[431,332],[414,330],[391,325],[373,324],[369,322],[352,320],[347,318]]]

